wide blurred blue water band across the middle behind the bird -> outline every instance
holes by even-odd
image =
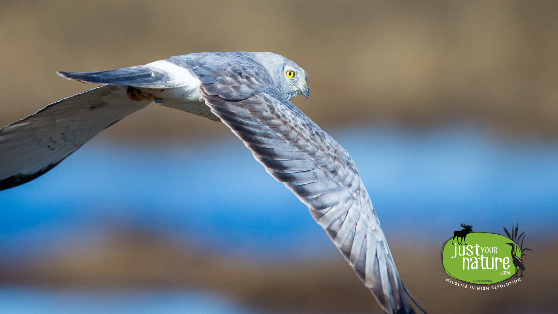
[[[388,239],[441,245],[460,223],[501,233],[519,222],[527,239],[558,234],[557,142],[467,127],[331,133],[355,160]],[[122,225],[256,255],[333,248],[235,138],[148,147],[93,140],[39,179],[0,192],[0,213],[0,249],[13,254],[95,241]]]

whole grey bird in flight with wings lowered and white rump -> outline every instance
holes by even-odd
[[[290,102],[309,93],[306,72],[293,61],[266,52],[194,53],[131,68],[58,74],[105,85],[0,129],[0,190],[40,177],[103,129],[155,101],[225,123],[309,207],[382,309],[415,313],[353,160]]]

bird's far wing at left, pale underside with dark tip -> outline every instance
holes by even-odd
[[[40,177],[100,131],[149,103],[132,101],[115,85],[103,85],[4,126],[0,129],[0,191]]]

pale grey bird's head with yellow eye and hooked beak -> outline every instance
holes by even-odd
[[[262,64],[270,70],[277,88],[287,99],[302,95],[308,98],[308,74],[304,69],[282,55],[259,53]],[[304,99],[306,99],[304,98]]]

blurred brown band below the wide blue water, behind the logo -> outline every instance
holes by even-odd
[[[530,245],[526,277],[488,292],[476,290],[483,285],[473,285],[473,291],[446,282],[451,277],[441,267],[439,246],[388,241],[406,287],[430,314],[556,313],[556,241]],[[115,232],[97,245],[0,269],[0,282],[115,292],[195,288],[256,313],[382,313],[340,255],[258,263],[193,251],[140,230]]]

